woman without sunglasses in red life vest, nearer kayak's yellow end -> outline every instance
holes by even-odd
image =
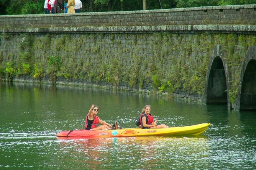
[[[149,129],[149,128],[169,128],[169,126],[165,124],[156,125],[156,120],[153,122],[153,115],[150,114],[151,106],[146,105],[141,111],[141,116],[139,118],[139,121],[141,122],[141,128],[142,129]]]

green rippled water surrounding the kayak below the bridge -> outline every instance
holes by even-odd
[[[158,123],[211,123],[200,136],[59,139],[84,128],[92,104],[99,117],[135,127],[146,104]],[[0,85],[0,169],[225,169],[256,168],[256,112],[228,111],[167,97],[82,87]]]

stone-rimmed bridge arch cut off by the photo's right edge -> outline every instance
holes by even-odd
[[[241,67],[238,90],[239,111],[256,111],[256,46],[249,47]]]

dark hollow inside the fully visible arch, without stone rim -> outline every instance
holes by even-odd
[[[206,104],[227,104],[226,75],[222,59],[217,56],[208,77]]]

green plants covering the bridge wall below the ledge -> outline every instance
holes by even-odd
[[[55,83],[83,80],[108,83],[117,88],[125,83],[154,93],[185,91],[203,94],[207,67],[213,48],[220,44],[230,77],[231,102],[235,102],[240,68],[251,34],[45,34],[14,35],[18,50],[4,50],[11,40],[1,36],[0,76],[30,75]],[[25,37],[25,38],[24,38]],[[11,48],[11,47],[8,47]],[[16,60],[15,58],[18,58]],[[12,69],[13,70],[12,70]],[[11,71],[12,70],[12,71]],[[10,73],[12,72],[12,73]]]

